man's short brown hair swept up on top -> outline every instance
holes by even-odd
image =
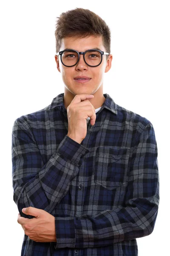
[[[106,52],[111,53],[111,31],[101,17],[88,9],[76,8],[57,17],[55,38],[56,53],[62,44],[62,38],[68,36],[86,37],[88,35],[102,35]]]

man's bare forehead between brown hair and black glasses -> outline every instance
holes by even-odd
[[[89,48],[90,47],[90,48]],[[104,50],[102,36],[100,35],[89,35],[85,37],[65,37],[62,39],[62,45],[60,50],[64,49],[76,49],[79,51],[84,51],[87,49],[101,49]],[[82,49],[83,48],[83,49]]]

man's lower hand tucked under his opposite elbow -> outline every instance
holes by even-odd
[[[18,214],[18,223],[23,227],[26,236],[36,242],[55,242],[55,218],[44,210],[34,207],[23,208],[22,212],[26,215],[32,215],[35,218],[24,218]]]

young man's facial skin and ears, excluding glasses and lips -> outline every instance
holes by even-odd
[[[103,46],[102,36],[87,36],[85,38],[66,37],[62,39],[62,46],[60,51],[64,49],[74,49],[78,52],[85,52],[88,49],[99,48],[106,52]],[[60,60],[60,57],[55,56],[57,62],[57,69],[62,74],[62,80],[65,84],[65,94],[72,93],[74,96],[77,94],[94,94],[99,88],[101,95],[104,73],[108,72],[111,68],[112,55],[109,55],[106,61],[106,56],[103,55],[102,63],[97,67],[88,66],[83,55],[80,54],[79,62],[74,67],[65,67]],[[86,76],[90,79],[85,82],[75,79],[77,76]]]

